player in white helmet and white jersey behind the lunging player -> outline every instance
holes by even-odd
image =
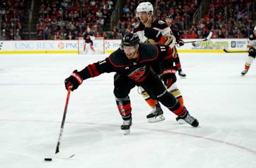
[[[137,17],[140,18],[140,22],[134,27],[133,33],[136,33],[140,38],[140,43],[151,43],[151,44],[164,44],[171,48],[175,45],[175,37],[167,24],[153,17],[154,8],[150,2],[142,2],[138,5]],[[177,57],[175,49],[173,49],[174,57]],[[159,75],[163,75],[162,64],[159,63],[153,66],[153,70]],[[172,73],[172,79],[164,81],[167,90],[183,104],[183,98],[180,90],[175,85],[176,76],[175,71]],[[153,110],[147,115],[148,122],[158,122],[165,120],[163,116],[163,110],[157,100],[152,99],[147,92],[141,88],[142,96]],[[177,118],[178,121],[178,118]],[[181,122],[180,122],[181,123]]]

